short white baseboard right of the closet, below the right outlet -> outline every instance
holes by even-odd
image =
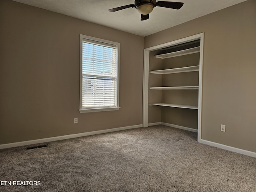
[[[256,152],[238,149],[238,148],[234,148],[231,146],[227,146],[227,145],[223,145],[223,144],[219,144],[219,143],[215,143],[215,142],[211,142],[211,141],[207,141],[207,140],[203,140],[203,139],[200,140],[200,143],[256,158]]]

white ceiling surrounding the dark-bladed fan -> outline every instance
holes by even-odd
[[[150,18],[145,21],[140,21],[140,14],[135,8],[127,8],[117,12],[108,11],[110,8],[134,4],[134,0],[14,1],[103,26],[108,26],[139,36],[148,36],[246,0],[174,0],[176,2],[184,2],[184,5],[180,10],[155,7],[150,13]]]

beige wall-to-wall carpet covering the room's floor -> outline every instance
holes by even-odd
[[[47,144],[0,150],[1,192],[256,192],[256,158],[194,132],[151,126]]]

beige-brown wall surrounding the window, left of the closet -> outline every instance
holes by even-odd
[[[119,111],[78,112],[80,34],[120,42]],[[0,144],[142,124],[143,49],[143,37],[1,0]]]

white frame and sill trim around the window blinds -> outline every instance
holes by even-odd
[[[92,40],[96,41],[99,44],[110,44],[114,45],[117,48],[117,64],[116,64],[116,71],[117,71],[117,80],[116,80],[116,106],[115,107],[102,107],[102,108],[82,108],[82,79],[83,79],[83,74],[82,74],[82,43],[83,40]],[[86,36],[80,34],[80,103],[79,103],[79,112],[80,113],[87,113],[87,112],[100,112],[100,111],[114,111],[114,110],[119,110],[119,63],[120,63],[120,43],[118,42],[113,42],[113,41],[108,41],[100,38],[95,38],[91,36]]]

